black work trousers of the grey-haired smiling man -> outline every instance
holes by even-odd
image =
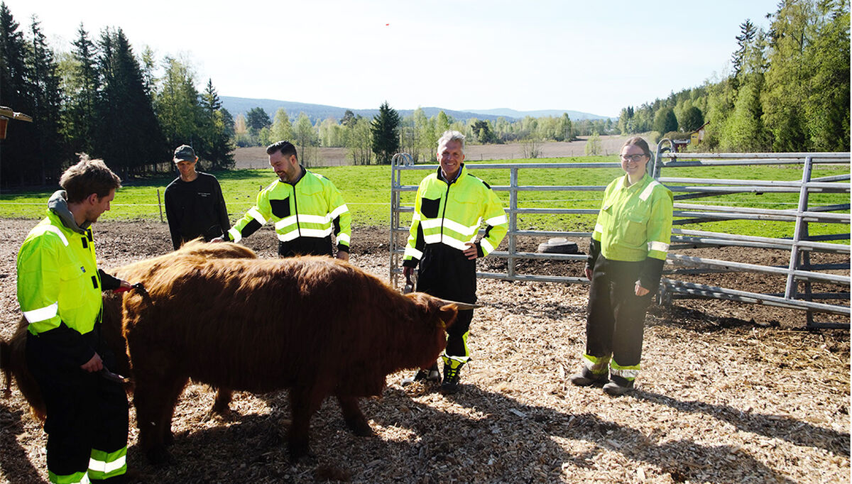
[[[450,301],[476,302],[476,260],[449,245],[426,245],[417,271],[417,291]],[[473,309],[458,312],[456,322],[446,330],[446,354],[468,355],[464,340],[473,318]]]

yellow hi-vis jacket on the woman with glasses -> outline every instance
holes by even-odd
[[[648,283],[643,287],[652,289],[659,284],[669,251],[674,197],[647,173],[633,185],[627,182],[627,175],[619,176],[603,193],[591,235],[589,267],[594,267],[597,252],[613,261],[647,261],[648,269],[643,269],[645,276],[640,279]]]

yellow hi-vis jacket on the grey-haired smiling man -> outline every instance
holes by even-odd
[[[475,242],[483,220],[487,225],[486,233]],[[456,179],[447,183],[438,168],[417,187],[403,265],[417,267],[423,249],[430,244],[449,245],[464,251],[467,242],[474,242],[478,255],[487,256],[508,231],[503,205],[486,182],[470,175],[462,165]]]

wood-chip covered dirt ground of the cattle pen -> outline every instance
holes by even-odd
[[[33,224],[3,221],[4,338],[20,318],[14,260]],[[95,242],[103,268],[170,247],[157,222],[101,222]],[[267,228],[245,242],[275,255]],[[354,264],[387,278],[386,228],[356,227],[353,246]],[[749,250],[728,256],[783,262],[781,254]],[[832,262],[842,260],[848,266],[849,257]],[[486,259],[481,269],[501,263]],[[579,263],[523,269],[582,270]],[[717,274],[704,282],[782,290],[768,279]],[[463,390],[403,389],[407,373],[390,375],[381,398],[361,403],[375,436],[349,433],[332,399],[312,420],[314,457],[291,463],[285,391],[238,393],[231,417],[206,418],[213,393],[191,384],[176,408],[176,464],[154,467],[137,452],[131,408],[130,469],[140,482],[849,482],[848,330],[804,331],[803,314],[785,309],[676,300],[650,310],[637,389],[613,398],[567,382],[584,350],[586,292],[481,279],[486,306],[471,326]],[[45,441],[13,385],[0,399],[0,482],[45,480]]]

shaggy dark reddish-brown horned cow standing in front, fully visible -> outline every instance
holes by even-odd
[[[328,395],[357,435],[372,431],[358,397],[385,377],[431,365],[457,313],[423,293],[399,294],[330,257],[184,257],[124,297],[141,448],[158,462],[187,378],[251,392],[290,389],[293,458],[308,452],[311,416]],[[165,322],[165,323],[164,323]]]

